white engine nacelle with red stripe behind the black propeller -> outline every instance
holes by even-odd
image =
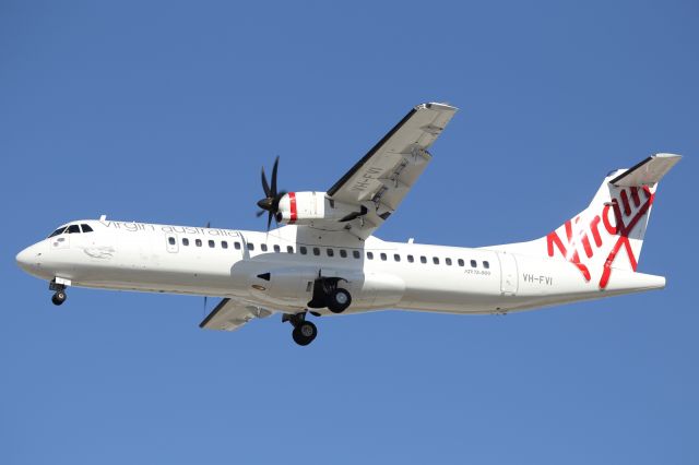
[[[286,225],[336,223],[358,211],[355,205],[335,202],[325,192],[289,192],[280,199],[276,220]]]

